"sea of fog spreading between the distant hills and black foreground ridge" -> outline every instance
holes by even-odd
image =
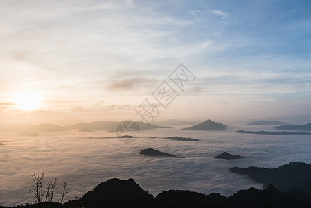
[[[33,202],[31,175],[44,173],[59,184],[66,182],[69,199],[82,196],[110,178],[134,178],[156,195],[168,189],[230,196],[240,189],[262,188],[229,168],[274,168],[289,162],[310,163],[310,135],[249,135],[236,130],[274,130],[271,126],[236,126],[222,131],[187,131],[159,128],[140,132],[131,144],[114,133],[57,132],[21,137],[17,132],[0,134],[0,205]],[[199,141],[173,141],[165,137],[191,137]],[[105,138],[110,137],[110,138]],[[154,148],[178,158],[140,155]],[[228,151],[244,158],[226,161],[214,157]],[[58,191],[57,191],[58,192]],[[59,196],[56,196],[58,200]]]

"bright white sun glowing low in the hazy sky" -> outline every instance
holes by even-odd
[[[37,110],[42,107],[42,94],[35,91],[19,92],[15,103],[19,110]]]

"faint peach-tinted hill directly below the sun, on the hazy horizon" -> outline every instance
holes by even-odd
[[[69,130],[68,128],[60,125],[54,125],[51,123],[35,124],[21,124],[11,125],[5,129],[12,132],[62,132]]]

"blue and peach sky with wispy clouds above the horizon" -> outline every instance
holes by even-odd
[[[310,118],[310,28],[307,0],[0,0],[0,125]]]

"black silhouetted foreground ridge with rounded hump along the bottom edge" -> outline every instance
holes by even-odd
[[[22,207],[35,208],[38,205]],[[44,207],[44,203],[41,207]],[[229,197],[218,193],[204,195],[181,190],[162,191],[154,197],[132,178],[128,180],[113,178],[98,184],[81,198],[66,202],[64,205],[53,202],[51,207],[311,207],[311,194],[300,189],[281,192],[272,184],[268,184],[263,190],[250,188],[237,191]],[[0,208],[8,207],[0,206]]]

